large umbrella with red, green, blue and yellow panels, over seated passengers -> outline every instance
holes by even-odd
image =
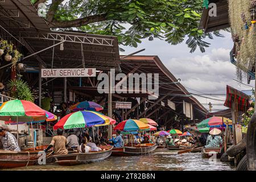
[[[95,111],[77,111],[65,115],[59,122],[53,126],[53,130],[57,129],[75,129],[81,127],[90,127],[110,122],[105,115]]]

